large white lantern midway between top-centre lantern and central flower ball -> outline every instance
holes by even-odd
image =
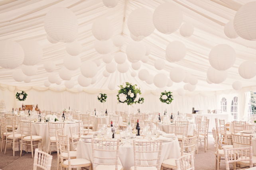
[[[140,61],[146,54],[146,47],[140,42],[130,42],[126,47],[127,58],[136,63]]]

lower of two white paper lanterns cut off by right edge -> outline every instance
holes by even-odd
[[[251,79],[256,76],[256,64],[251,61],[244,61],[240,64],[238,73],[242,78]]]

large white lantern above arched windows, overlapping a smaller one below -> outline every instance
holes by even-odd
[[[210,51],[209,62],[217,70],[227,70],[236,61],[236,52],[227,44],[220,44]]]

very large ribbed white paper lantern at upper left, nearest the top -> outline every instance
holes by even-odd
[[[44,18],[43,25],[46,33],[55,41],[72,43],[77,39],[77,17],[65,7],[51,8]]]

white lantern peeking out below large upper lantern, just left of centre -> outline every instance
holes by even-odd
[[[94,47],[98,53],[107,54],[111,52],[113,47],[113,42],[111,39],[108,39],[106,41],[99,41],[98,39],[96,39],[94,41]]]

